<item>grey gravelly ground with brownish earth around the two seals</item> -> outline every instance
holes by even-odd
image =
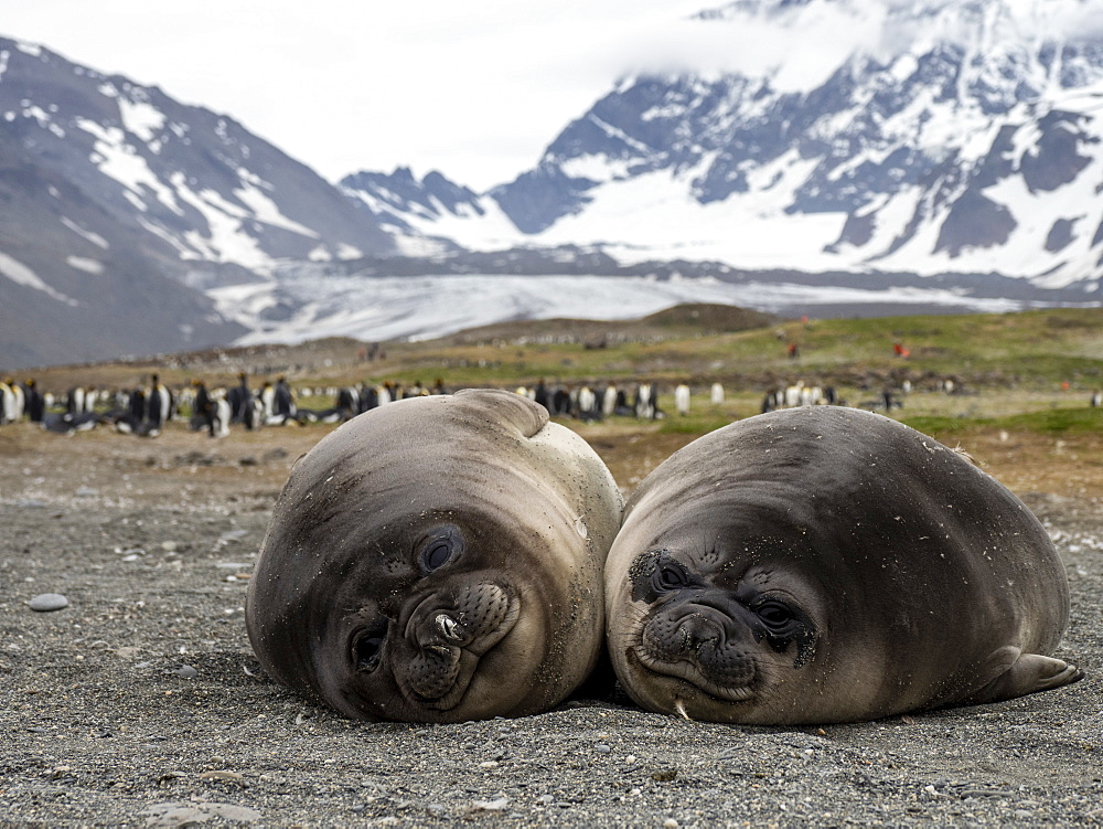
[[[248,573],[290,464],[325,431],[0,428],[0,825],[1103,823],[1099,436],[965,447],[1056,540],[1073,609],[1059,656],[1088,679],[768,729],[589,700],[520,720],[366,724],[275,685],[245,635]],[[688,440],[588,437],[622,483]],[[43,593],[68,606],[31,610]]]

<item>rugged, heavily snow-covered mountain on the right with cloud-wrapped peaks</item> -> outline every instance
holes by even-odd
[[[1095,296],[1103,4],[738,0],[707,71],[625,77],[514,181],[346,178],[406,236],[622,262],[998,273]]]

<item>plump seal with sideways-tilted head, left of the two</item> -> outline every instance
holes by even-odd
[[[372,410],[291,470],[249,585],[253,649],[353,718],[544,711],[601,652],[621,506],[586,442],[516,394]]]

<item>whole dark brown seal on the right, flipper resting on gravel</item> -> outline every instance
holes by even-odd
[[[1082,676],[1047,656],[1069,587],[1034,514],[850,408],[751,417],[660,465],[625,504],[606,612],[628,693],[695,720],[864,721]]]

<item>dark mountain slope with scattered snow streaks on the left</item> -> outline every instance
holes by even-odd
[[[395,249],[335,187],[232,118],[0,38],[0,363],[245,333],[201,288]]]

